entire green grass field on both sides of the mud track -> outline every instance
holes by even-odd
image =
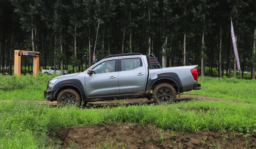
[[[13,99],[0,101],[0,148],[58,148],[58,142],[55,146],[46,146],[48,135],[55,136],[63,127],[97,125],[103,121],[142,126],[150,123],[184,132],[225,129],[243,132],[245,136],[256,132],[256,80],[199,78],[202,90],[187,93],[222,99],[191,99],[170,105],[79,109],[22,102],[22,99],[45,100],[43,90],[46,90],[48,79],[53,77],[41,73],[36,77],[0,75],[0,98]],[[228,99],[236,102],[228,102]]]

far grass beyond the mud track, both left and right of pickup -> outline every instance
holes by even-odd
[[[56,74],[46,75],[39,73],[36,77],[31,75],[6,76],[0,74],[0,100],[46,100],[43,91],[46,90],[49,79]],[[202,96],[222,97],[245,103],[255,102],[256,80],[240,80],[235,78],[199,78],[201,90],[191,90],[184,94],[197,94]]]

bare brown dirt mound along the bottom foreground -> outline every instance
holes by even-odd
[[[233,132],[199,131],[173,132],[157,128],[153,124],[111,124],[102,122],[96,126],[78,126],[62,129],[59,139],[64,148],[82,149],[244,149],[256,147],[256,134],[247,138]]]

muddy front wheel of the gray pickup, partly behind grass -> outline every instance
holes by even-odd
[[[57,97],[57,103],[61,107],[68,105],[76,105],[77,107],[80,107],[81,101],[80,94],[73,89],[62,90]]]

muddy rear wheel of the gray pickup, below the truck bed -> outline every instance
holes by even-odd
[[[176,90],[167,83],[156,86],[153,90],[153,99],[155,103],[171,103],[176,100]]]

